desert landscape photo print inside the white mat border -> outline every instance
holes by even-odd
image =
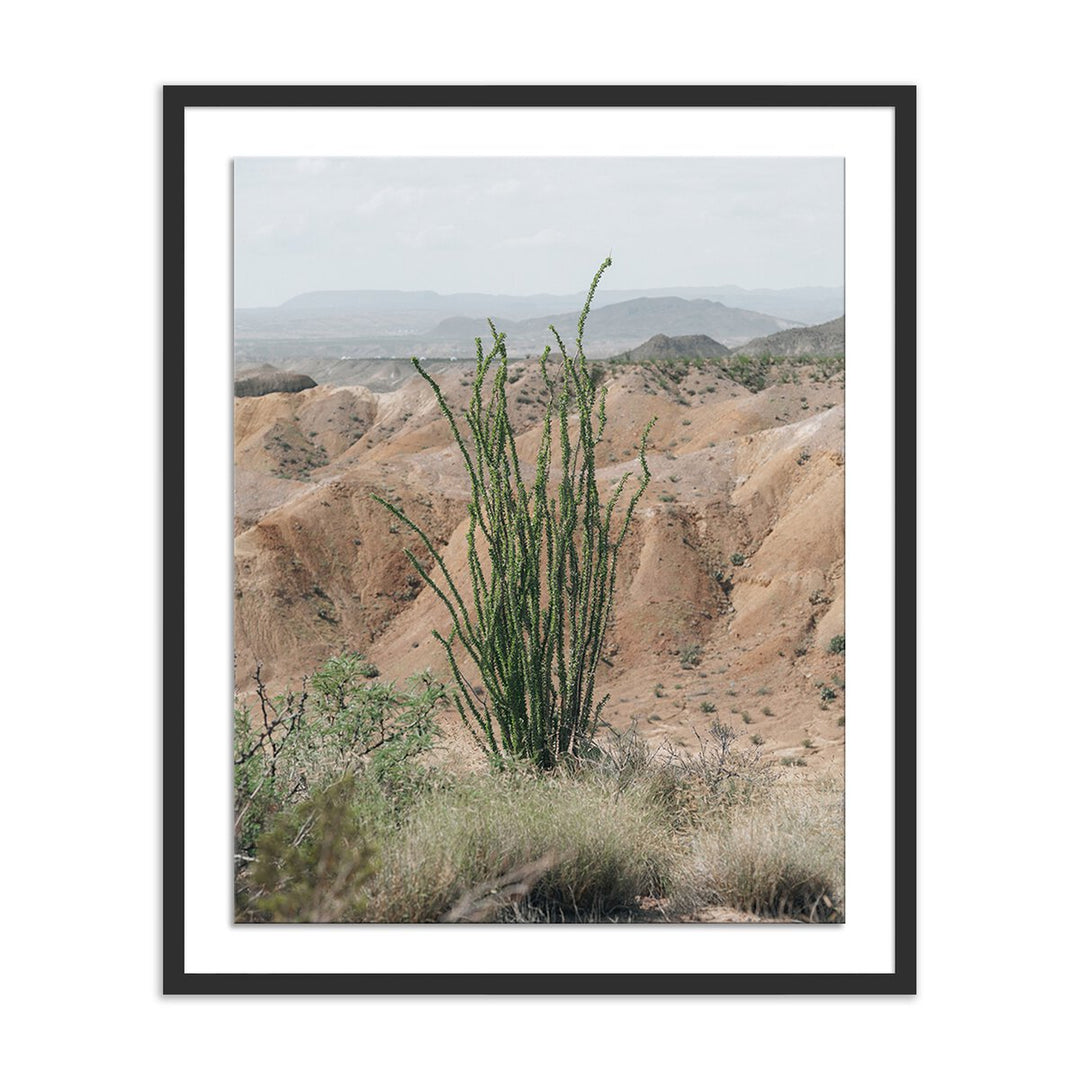
[[[842,921],[843,161],[233,176],[238,921]]]

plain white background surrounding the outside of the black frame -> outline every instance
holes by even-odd
[[[1076,958],[1071,36],[1061,5],[960,8],[9,13],[0,895],[18,1075],[1059,1075]],[[159,87],[541,80],[919,84],[920,994],[162,999]]]

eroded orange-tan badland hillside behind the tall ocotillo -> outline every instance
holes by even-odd
[[[740,366],[742,365],[742,366]],[[814,768],[843,747],[843,372],[809,359],[608,364],[602,495],[652,481],[620,559],[605,718],[692,745],[713,720]],[[472,393],[441,377],[451,407]],[[535,460],[544,408],[536,363],[512,363],[511,420]],[[431,389],[315,387],[235,402],[238,688],[256,664],[297,686],[329,652],[364,652],[383,677],[445,672],[431,631],[446,611],[403,554],[431,556],[373,494],[400,505],[463,577],[469,487]],[[459,721],[447,715],[451,732]]]

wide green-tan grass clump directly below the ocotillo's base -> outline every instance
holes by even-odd
[[[483,882],[538,862],[546,868],[527,895],[508,893],[489,917],[616,920],[662,891],[673,867],[670,826],[652,792],[596,772],[462,780],[421,798],[376,845],[380,866],[363,905],[370,922],[436,921]]]

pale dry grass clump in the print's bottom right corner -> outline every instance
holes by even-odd
[[[673,906],[843,921],[843,793],[835,780],[778,784],[691,839]]]

